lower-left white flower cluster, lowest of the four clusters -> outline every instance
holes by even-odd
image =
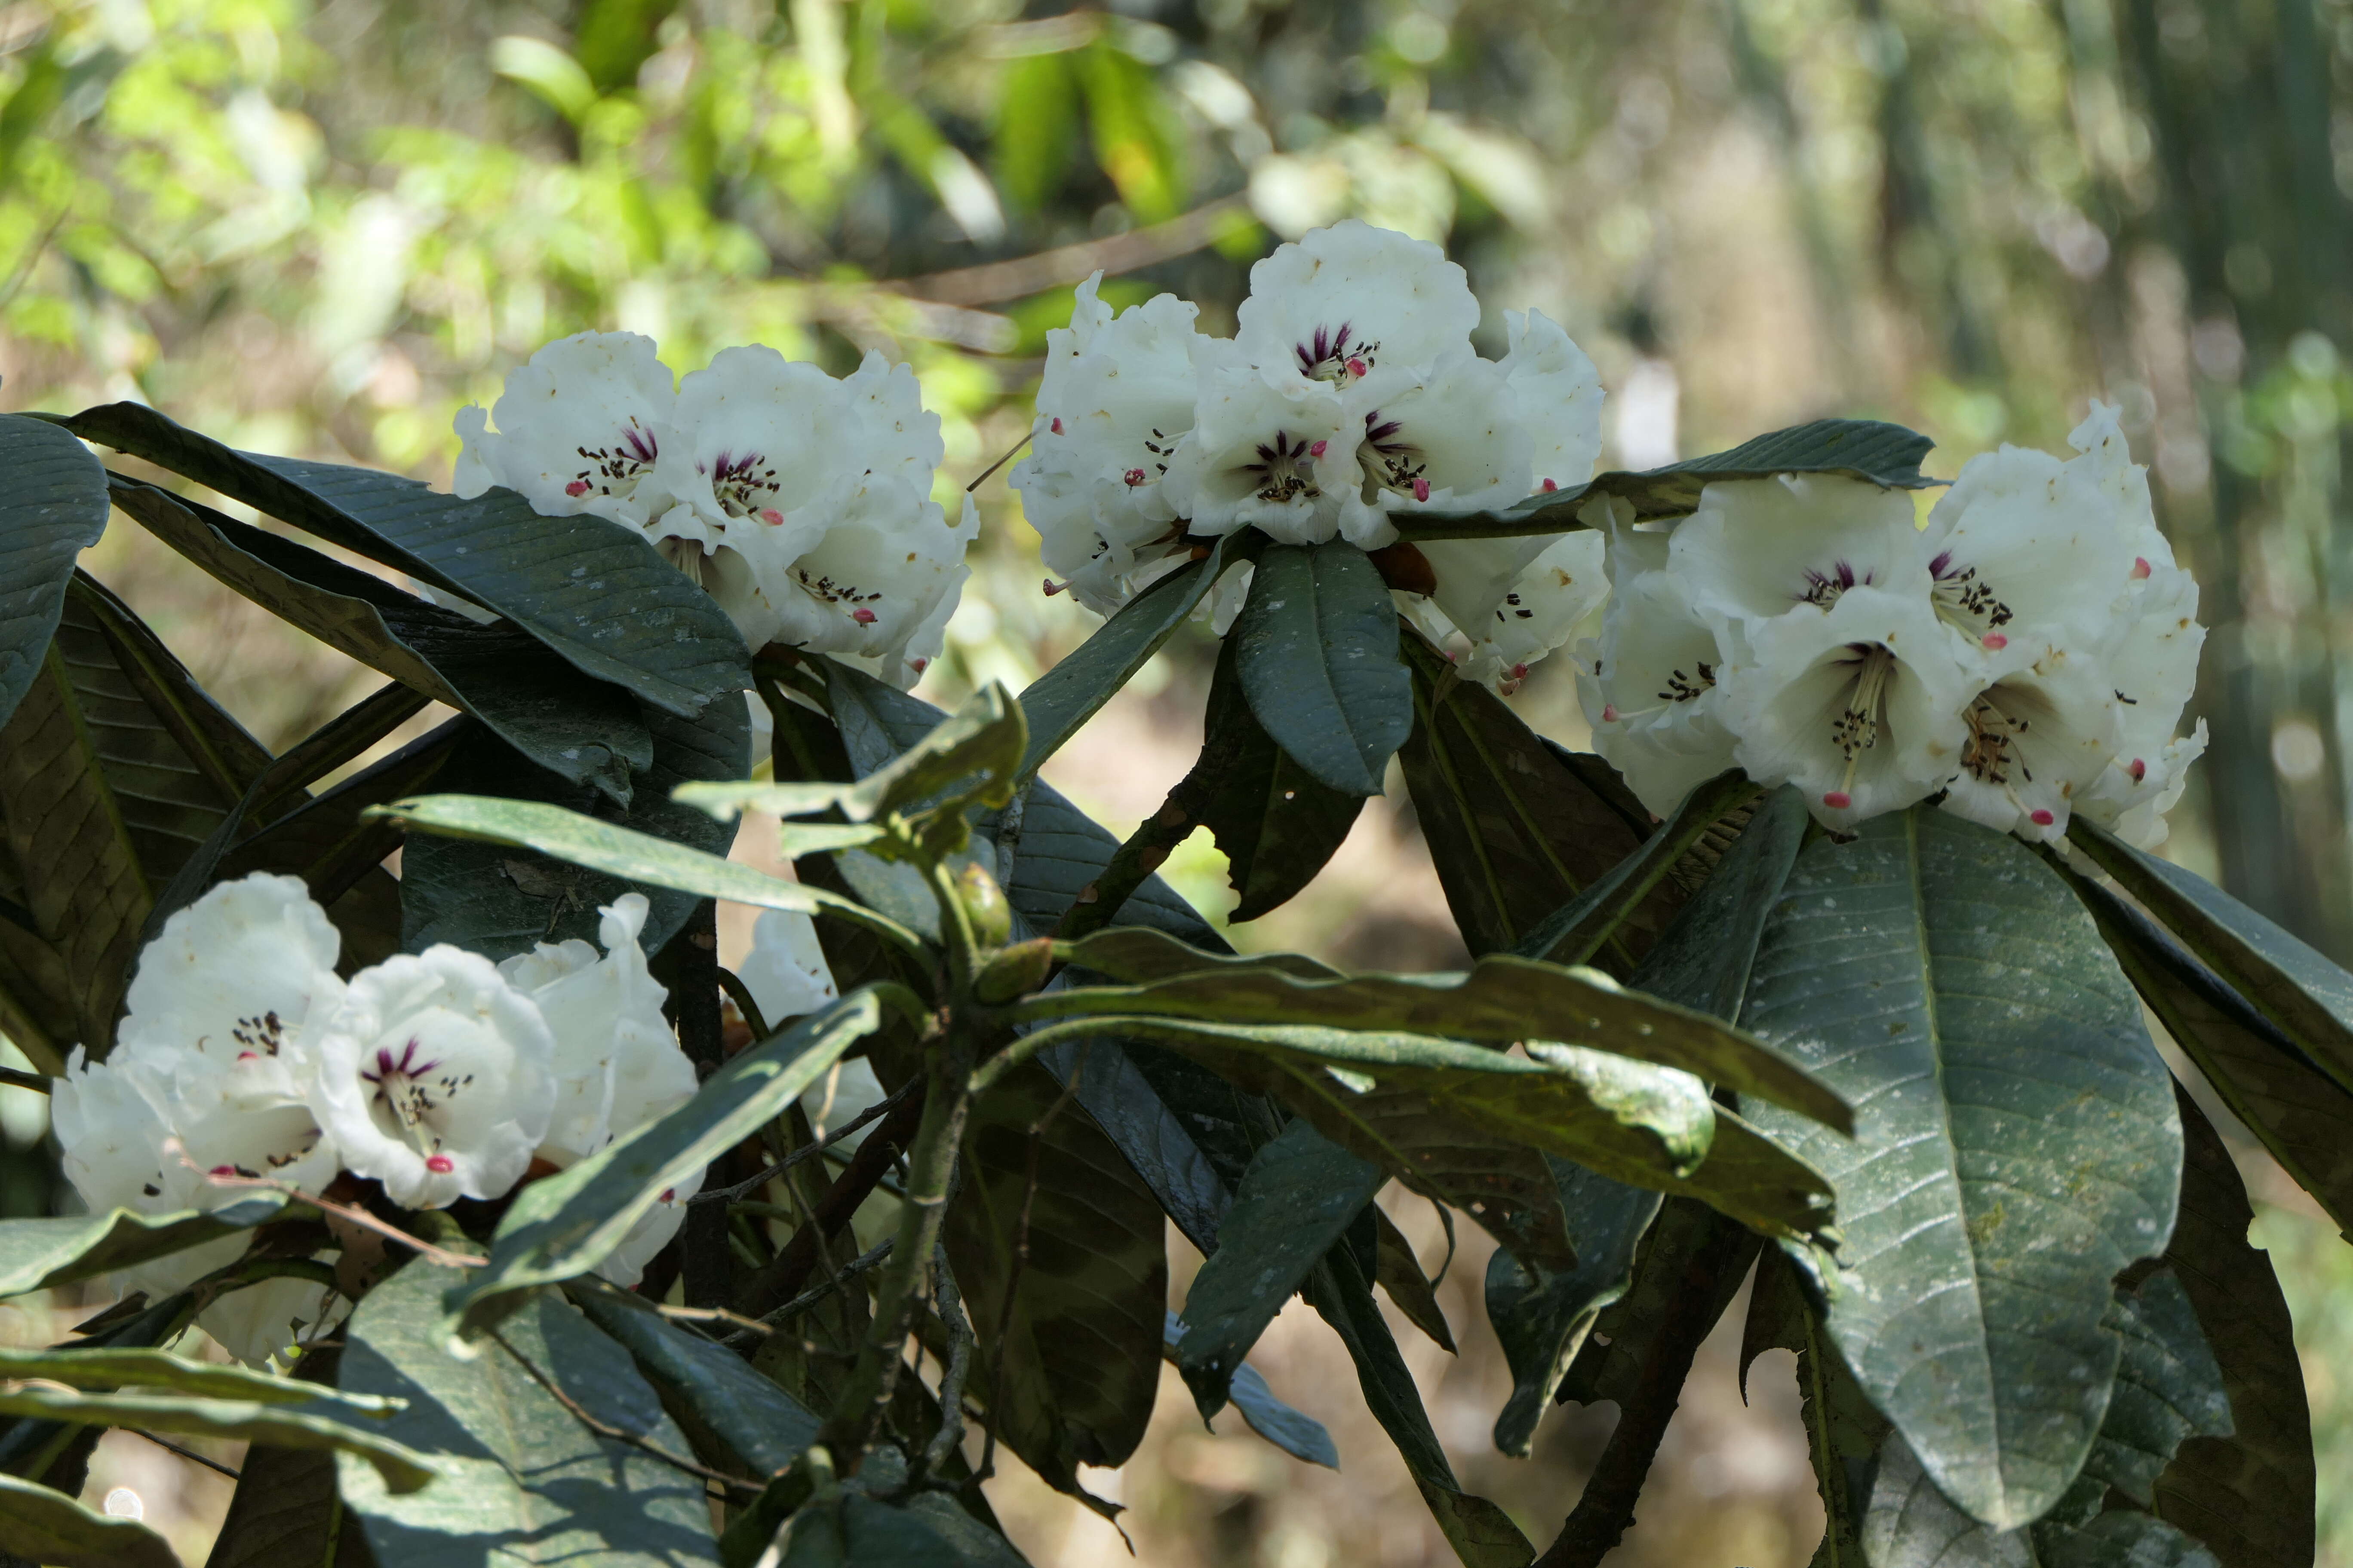
[[[224,882],[139,954],[113,1053],[68,1060],[52,1095],[66,1175],[96,1213],[219,1208],[254,1178],[315,1194],[344,1171],[440,1208],[569,1166],[696,1081],[638,947],[645,898],[602,917],[602,954],[567,940],[492,964],[442,945],[344,980],[341,938],[299,879]],[[616,1284],[685,1218],[687,1194],[666,1197],[605,1262]],[[226,1237],[129,1281],[176,1291],[242,1246]],[[329,1307],[322,1286],[271,1281],[200,1321],[264,1361]]]

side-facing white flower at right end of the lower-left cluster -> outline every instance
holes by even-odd
[[[661,1016],[668,992],[638,945],[647,917],[645,893],[624,893],[598,914],[602,957],[574,938],[562,945],[539,943],[499,964],[499,973],[532,999],[555,1039],[548,1058],[555,1110],[536,1150],[553,1166],[569,1166],[605,1147],[621,1121],[635,1126],[649,1098],[668,1110],[694,1093],[694,1065]]]

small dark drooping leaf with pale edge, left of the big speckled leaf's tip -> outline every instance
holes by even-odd
[[[1586,1335],[1633,1284],[1633,1260],[1659,1194],[1626,1187],[1567,1161],[1553,1161],[1560,1208],[1577,1241],[1577,1265],[1546,1269],[1508,1248],[1487,1260],[1487,1321],[1511,1366],[1511,1399],[1494,1418],[1494,1446],[1527,1458],[1537,1422],[1560,1389]]]

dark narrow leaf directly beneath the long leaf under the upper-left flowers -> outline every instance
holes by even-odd
[[[581,675],[511,623],[475,625],[292,538],[224,517],[151,484],[115,482],[115,503],[216,581],[339,654],[482,719],[567,783],[628,804],[628,776],[654,764],[631,696]]]

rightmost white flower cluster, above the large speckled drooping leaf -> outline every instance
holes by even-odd
[[[1833,830],[1941,797],[2028,839],[2082,811],[2158,844],[2205,750],[2205,724],[2177,736],[2198,583],[2118,411],[2071,442],[1972,458],[1925,529],[1906,491],[1800,475],[1711,484],[1673,531],[1621,512],[1581,649],[1595,750],[1661,816],[1739,766]]]

